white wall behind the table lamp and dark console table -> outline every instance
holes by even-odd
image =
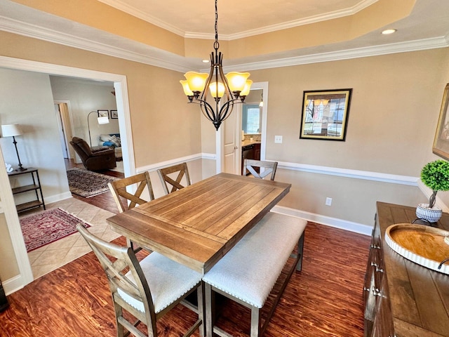
[[[24,134],[16,140],[23,166],[39,169],[46,202],[69,197],[48,75],[0,68],[0,83],[0,124],[20,124],[22,127]],[[6,163],[17,167],[13,139],[0,138],[0,146]],[[20,184],[17,178],[10,181],[12,187]],[[22,202],[34,199],[34,195],[21,194],[16,199]]]

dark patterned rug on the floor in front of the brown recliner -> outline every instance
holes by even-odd
[[[85,198],[109,191],[107,183],[117,180],[105,174],[77,168],[68,170],[67,178],[69,178],[70,192]]]

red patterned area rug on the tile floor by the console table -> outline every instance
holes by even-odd
[[[48,209],[21,218],[20,227],[22,227],[27,252],[73,234],[76,232],[78,223],[82,223],[86,228],[91,227],[63,209]]]

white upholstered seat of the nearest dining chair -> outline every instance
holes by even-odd
[[[156,313],[167,308],[168,305],[175,302],[175,300],[201,282],[201,274],[199,272],[195,272],[189,267],[185,267],[185,265],[181,265],[156,252],[149,254],[149,256],[140,261],[140,267],[142,267],[142,272],[147,278],[149,289],[152,289],[152,300],[154,312]],[[126,277],[131,282],[135,282],[130,272],[126,273]],[[144,305],[140,300],[129,296],[120,288],[117,289],[117,293],[133,308],[145,312]]]

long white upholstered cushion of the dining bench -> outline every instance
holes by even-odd
[[[306,225],[300,218],[267,213],[203,276],[203,281],[262,308]]]

